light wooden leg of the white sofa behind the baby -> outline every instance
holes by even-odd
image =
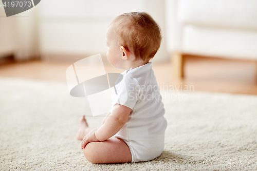
[[[172,68],[173,75],[175,78],[183,78],[184,77],[184,58],[182,53],[174,52],[172,54]]]

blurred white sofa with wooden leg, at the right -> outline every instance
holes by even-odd
[[[177,77],[186,54],[257,61],[256,0],[167,0],[166,24]]]

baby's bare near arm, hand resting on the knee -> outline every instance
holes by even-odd
[[[83,139],[81,147],[85,148],[89,142],[105,141],[114,136],[126,123],[131,108],[115,104],[113,112],[106,118],[102,126],[96,131],[89,132]]]

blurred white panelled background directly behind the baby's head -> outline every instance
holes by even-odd
[[[163,40],[153,61],[168,59],[165,46],[164,0],[44,0],[40,6],[40,51],[50,54],[106,53],[106,29],[125,12],[150,13],[162,29]],[[72,57],[71,57],[72,58]]]

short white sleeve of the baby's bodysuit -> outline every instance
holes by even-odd
[[[137,80],[125,74],[122,81],[115,85],[115,93],[112,96],[113,105],[117,103],[133,109],[140,92],[141,86]]]

